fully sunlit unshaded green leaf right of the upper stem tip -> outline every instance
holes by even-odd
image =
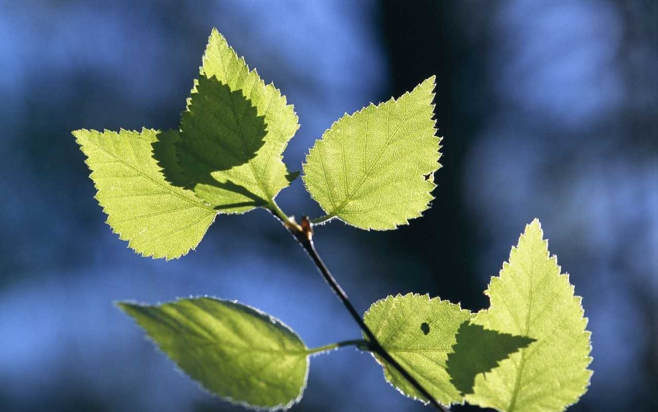
[[[327,219],[387,230],[429,207],[440,167],[433,90],[434,76],[397,100],[345,114],[316,141],[303,180]]]

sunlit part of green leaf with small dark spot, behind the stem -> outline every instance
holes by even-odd
[[[370,306],[363,319],[393,359],[445,405],[463,396],[451,383],[446,359],[455,344],[459,326],[470,311],[426,294],[388,296]],[[426,401],[407,380],[378,355],[386,380],[410,398]]]

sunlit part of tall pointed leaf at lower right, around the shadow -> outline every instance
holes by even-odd
[[[468,403],[506,412],[556,412],[587,390],[592,371],[590,332],[569,275],[549,257],[537,219],[526,226],[509,263],[485,294],[491,307],[473,319],[486,329],[528,336],[528,348],[475,378]]]

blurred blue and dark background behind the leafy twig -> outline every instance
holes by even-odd
[[[212,294],[309,346],[359,336],[263,210],[218,217],[172,262],[140,258],[104,223],[70,131],[176,127],[213,26],[295,104],[291,170],[343,112],[437,75],[432,209],[397,231],[316,233],[357,308],[412,291],[485,308],[489,277],[539,217],[593,333],[592,385],[569,410],[658,410],[651,0],[0,0],[0,410],[242,410],[175,371],[113,300]],[[299,180],[278,199],[320,214]],[[428,409],[346,348],[313,359],[293,410]]]

